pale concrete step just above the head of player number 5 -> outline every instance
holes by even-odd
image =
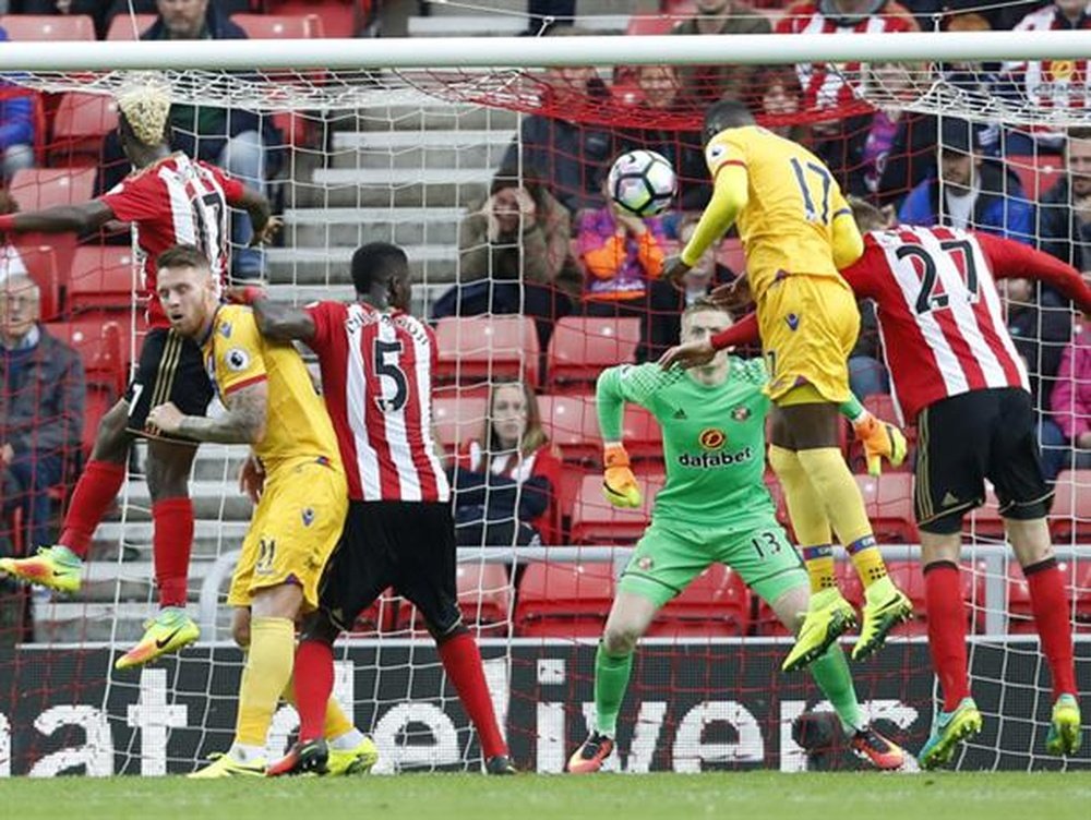
[[[466,208],[291,208],[285,212],[285,240],[296,249],[394,242],[399,245],[455,245]]]

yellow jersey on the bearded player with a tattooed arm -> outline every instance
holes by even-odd
[[[216,311],[201,349],[208,377],[225,405],[235,390],[268,383],[265,435],[254,445],[266,471],[301,457],[325,459],[340,469],[333,422],[291,342],[266,339],[250,308],[225,304]]]

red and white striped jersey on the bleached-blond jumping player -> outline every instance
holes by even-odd
[[[216,166],[171,154],[125,177],[99,197],[125,222],[132,222],[144,267],[144,297],[152,327],[170,327],[155,296],[156,260],[177,244],[196,245],[213,274],[228,273],[228,205],[242,198],[243,185]]]

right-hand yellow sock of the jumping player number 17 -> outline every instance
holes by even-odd
[[[811,484],[825,502],[826,514],[834,524],[838,540],[852,556],[864,588],[886,578],[886,564],[875,545],[872,524],[864,511],[860,487],[849,472],[849,466],[836,447],[800,450],[800,463],[811,478]]]

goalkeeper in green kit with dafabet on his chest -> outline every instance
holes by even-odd
[[[721,308],[698,300],[682,316],[682,340],[706,339],[730,325],[731,317]],[[799,628],[807,611],[810,583],[777,522],[763,481],[770,407],[763,390],[766,379],[760,360],[729,357],[727,351],[688,371],[664,371],[648,363],[610,367],[599,376],[608,501],[619,507],[640,505],[621,441],[626,401],[647,408],[658,419],[667,482],[656,496],[651,524],[618,584],[595,659],[595,724],[568,759],[570,772],[596,772],[610,757],[637,640],[658,610],[709,565],[728,565],[786,627],[793,632]],[[848,405],[842,412],[859,423],[866,411],[855,399]],[[840,646],[832,643],[810,668],[834,704],[853,751],[878,769],[901,768],[902,749],[864,721]]]

